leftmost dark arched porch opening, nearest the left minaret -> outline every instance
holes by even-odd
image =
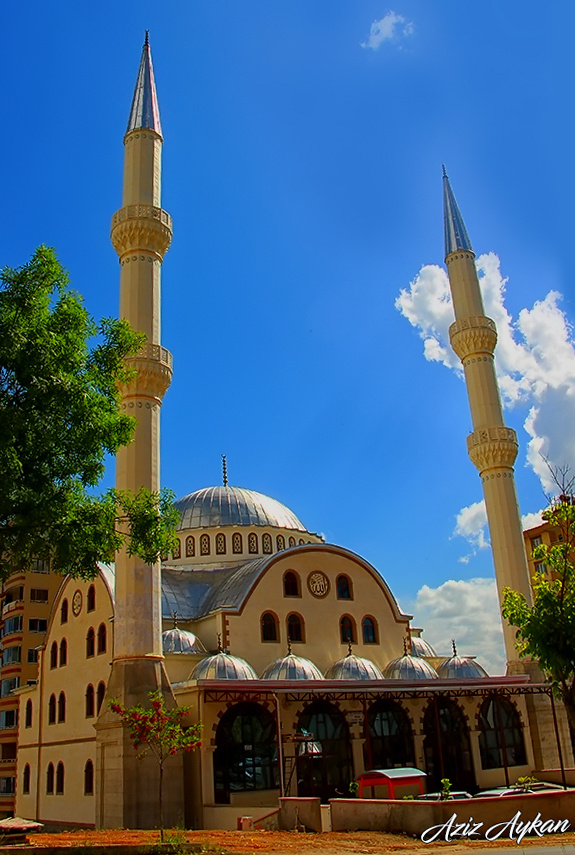
[[[214,794],[216,804],[230,804],[232,793],[277,789],[276,724],[256,703],[229,709],[216,731]]]

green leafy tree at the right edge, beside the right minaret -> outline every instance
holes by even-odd
[[[533,605],[505,588],[502,613],[517,627],[519,654],[538,659],[555,684],[575,733],[575,499],[568,471],[564,467],[553,472],[561,494],[551,501],[543,519],[550,524],[554,541],[533,550],[535,560],[548,568],[533,578]]]

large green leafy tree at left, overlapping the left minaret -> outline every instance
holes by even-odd
[[[118,383],[144,340],[125,321],[96,324],[52,249],[1,272],[0,579],[36,559],[88,578],[124,543],[147,563],[172,548],[170,493],[92,492],[132,439]]]

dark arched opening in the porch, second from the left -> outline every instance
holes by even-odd
[[[327,701],[315,701],[301,714],[298,731],[313,737],[298,747],[298,795],[319,796],[324,803],[349,795],[353,763],[343,714]]]

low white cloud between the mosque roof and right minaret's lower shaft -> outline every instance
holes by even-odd
[[[436,652],[451,655],[454,638],[461,656],[476,656],[492,676],[505,673],[505,649],[494,579],[450,579],[417,592],[414,626]]]

